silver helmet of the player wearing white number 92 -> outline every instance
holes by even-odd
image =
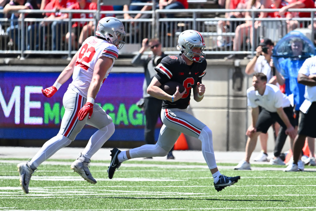
[[[118,49],[121,49],[125,44],[123,41],[125,36],[124,25],[115,17],[102,18],[98,23],[95,35],[105,38],[106,41],[115,45]]]

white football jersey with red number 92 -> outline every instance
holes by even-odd
[[[81,96],[87,98],[88,89],[93,76],[93,70],[97,60],[102,57],[113,59],[111,67],[106,71],[104,79],[107,78],[112,70],[115,60],[118,58],[119,53],[116,46],[96,37],[88,37],[78,51],[76,65],[72,74],[72,82],[69,84],[68,89],[75,91]],[[101,85],[104,82],[101,82]]]

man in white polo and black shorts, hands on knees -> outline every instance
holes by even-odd
[[[294,139],[296,131],[294,129],[295,120],[293,108],[289,99],[272,84],[267,84],[267,76],[262,72],[255,73],[252,78],[252,87],[247,90],[248,106],[252,108],[252,124],[247,129],[249,136],[246,143],[245,159],[234,168],[235,170],[250,170],[250,156],[257,144],[258,135],[266,133],[271,124],[278,122],[281,127],[287,128],[285,133]],[[259,114],[259,107],[262,111]],[[280,129],[280,131],[282,131]],[[276,144],[279,142],[280,134]]]

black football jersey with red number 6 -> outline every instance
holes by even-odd
[[[163,109],[186,109],[190,104],[191,88],[196,87],[197,82],[202,83],[202,77],[206,73],[206,60],[202,63],[193,62],[192,65],[187,65],[179,55],[167,56],[155,67],[157,74],[155,77],[161,84],[168,81],[176,81],[184,86],[185,94],[176,102],[163,100]]]

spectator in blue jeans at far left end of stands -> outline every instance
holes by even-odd
[[[3,8],[3,13],[8,14],[9,12],[18,11],[21,9],[39,9],[38,4],[35,0],[12,0]],[[21,38],[24,38],[25,35],[18,36],[20,27],[17,24],[18,16],[21,14],[13,13],[11,16],[11,20],[14,22],[13,26],[11,25],[7,28],[7,32],[9,33],[11,39],[15,42],[18,49],[21,49]],[[40,13],[27,13],[25,14],[26,18],[43,18],[43,15]],[[36,33],[35,33],[36,30]],[[20,33],[21,34],[21,33]],[[36,35],[35,35],[36,34]],[[29,22],[27,26],[27,50],[39,50],[39,39],[43,38],[42,27],[39,22]],[[25,48],[24,48],[25,49]]]

